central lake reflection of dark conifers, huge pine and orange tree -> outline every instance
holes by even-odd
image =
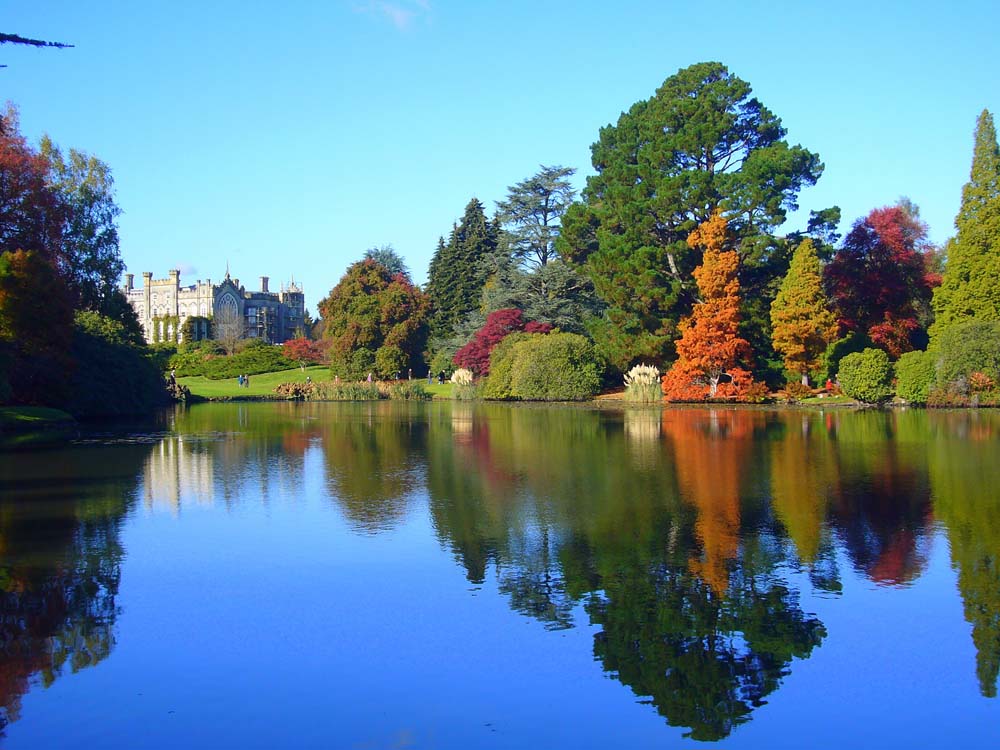
[[[649,461],[659,428],[648,420],[626,432],[578,410],[559,417],[554,440],[540,421],[551,413],[477,411],[463,435],[432,431],[431,507],[470,578],[483,580],[488,558],[511,607],[547,627],[571,625],[584,603],[605,670],[670,724],[721,739],[825,631],[777,575],[774,530],[741,530],[741,478],[763,415],[664,415],[667,440]],[[641,461],[628,460],[626,435],[642,441]]]

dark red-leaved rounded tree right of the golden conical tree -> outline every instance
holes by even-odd
[[[918,246],[927,227],[901,206],[858,219],[824,270],[842,332],[866,334],[896,358],[914,348],[933,277]]]

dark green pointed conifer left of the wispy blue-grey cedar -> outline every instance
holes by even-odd
[[[497,249],[497,226],[486,218],[477,198],[469,201],[448,243],[438,241],[427,274],[427,294],[433,306],[431,334],[447,337],[476,309],[486,283],[484,260]]]

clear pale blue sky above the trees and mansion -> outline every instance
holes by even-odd
[[[33,141],[111,165],[137,277],[316,302],[366,248],[418,282],[478,197],[492,213],[541,164],[592,173],[599,128],[718,60],[826,171],[800,195],[841,230],[902,195],[953,232],[976,117],[1000,115],[995,0],[879,2],[0,2],[0,94]]]

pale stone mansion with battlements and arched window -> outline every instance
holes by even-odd
[[[248,291],[239,279],[231,279],[229,271],[221,284],[211,279],[190,286],[181,286],[180,271],[169,271],[165,279],[154,279],[146,271],[142,287],[134,287],[134,274],[125,274],[123,291],[132,305],[146,340],[181,341],[182,328],[194,318],[193,335],[207,338],[209,320],[231,321],[239,327],[242,337],[259,338],[270,344],[280,344],[293,338],[302,328],[305,315],[305,295],[294,281],[282,285],[278,292],[270,291],[268,277],[260,277],[260,289]]]

